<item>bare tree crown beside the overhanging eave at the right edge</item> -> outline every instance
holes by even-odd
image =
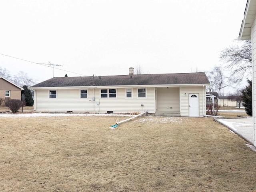
[[[220,52],[220,59],[225,64],[225,69],[230,70],[229,81],[239,83],[243,80],[244,74],[248,74],[252,69],[252,46],[250,40],[244,40],[239,45],[224,48]]]

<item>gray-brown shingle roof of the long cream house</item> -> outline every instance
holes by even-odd
[[[54,77],[32,87],[209,84],[204,72],[93,77]]]

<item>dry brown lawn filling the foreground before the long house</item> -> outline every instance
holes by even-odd
[[[0,191],[256,190],[256,153],[212,118],[0,120]]]

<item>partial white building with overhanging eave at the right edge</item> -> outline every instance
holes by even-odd
[[[253,136],[254,146],[256,146],[256,0],[247,0],[246,8],[244,11],[244,20],[240,28],[240,40],[252,40],[252,98],[253,98]]]

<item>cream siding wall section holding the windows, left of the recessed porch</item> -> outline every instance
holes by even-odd
[[[80,90],[58,89],[58,97],[54,100],[49,99],[49,90],[36,90],[36,111],[37,112],[67,112],[77,113],[132,113],[155,112],[154,88],[147,88],[147,98],[132,97],[126,98],[126,88],[116,88],[116,98],[101,98],[101,89],[89,89],[87,91],[88,99],[80,99],[77,94]],[[138,94],[138,88],[132,88],[132,93]],[[95,97],[95,101],[92,99]],[[97,105],[99,103],[99,105]]]

